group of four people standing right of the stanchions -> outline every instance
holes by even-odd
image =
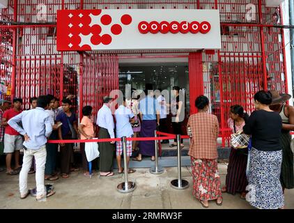
[[[197,114],[189,116],[189,155],[192,162],[193,194],[204,208],[215,200],[222,205],[222,193],[240,193],[255,208],[284,209],[284,190],[294,187],[293,152],[290,131],[294,130],[294,108],[285,105],[291,95],[258,91],[256,111],[251,116],[240,105],[230,110],[232,132],[251,136],[248,148],[231,148],[226,182],[220,187],[217,170],[217,117],[208,114],[208,98],[199,96]],[[249,162],[248,162],[249,160]]]

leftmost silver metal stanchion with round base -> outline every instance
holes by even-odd
[[[125,182],[120,183],[117,186],[117,190],[121,193],[128,193],[136,189],[136,183],[127,181],[127,137],[122,137],[121,141],[123,142],[123,166],[125,168]]]

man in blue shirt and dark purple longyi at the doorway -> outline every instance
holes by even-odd
[[[148,93],[146,98],[139,102],[142,120],[140,137],[154,137],[157,125],[160,125],[160,105],[154,98],[152,89],[147,89],[146,93]],[[141,161],[142,155],[150,156],[152,161],[155,160],[154,141],[140,141],[139,148],[139,155],[133,160]]]

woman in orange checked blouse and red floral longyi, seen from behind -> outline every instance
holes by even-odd
[[[187,124],[192,133],[189,155],[192,162],[193,195],[204,208],[208,208],[210,200],[216,200],[217,205],[222,205],[221,181],[217,169],[219,123],[217,116],[207,113],[208,104],[206,96],[196,98],[195,105],[199,112],[189,116]]]

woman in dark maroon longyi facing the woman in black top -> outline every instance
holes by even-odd
[[[245,119],[248,118],[242,106],[231,106],[230,116],[228,125],[233,133],[242,130],[245,125]],[[226,186],[222,187],[222,192],[233,195],[240,193],[240,199],[246,199],[246,187],[248,185],[246,177],[247,155],[247,148],[231,148],[228,172],[226,174]]]

